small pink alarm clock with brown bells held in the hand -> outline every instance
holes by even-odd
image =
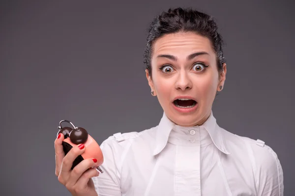
[[[73,126],[73,128],[67,126],[62,127],[62,122],[70,123]],[[67,120],[60,121],[58,128],[58,135],[59,133],[62,133],[64,135],[62,147],[65,154],[67,154],[72,147],[77,146],[79,144],[84,144],[86,147],[85,151],[74,160],[71,169],[73,170],[73,168],[84,159],[95,158],[97,159],[97,166],[95,168],[101,173],[103,173],[103,171],[99,168],[99,166],[101,166],[101,164],[103,163],[102,151],[97,142],[88,134],[88,132],[82,127],[74,126],[73,123]]]

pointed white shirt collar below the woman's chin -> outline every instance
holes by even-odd
[[[156,144],[153,149],[153,155],[156,155],[160,153],[164,147],[166,146],[168,142],[169,135],[171,133],[171,130],[175,127],[179,126],[173,123],[165,114],[163,113],[163,116],[161,118],[160,123],[156,127]],[[199,126],[205,128],[207,132],[210,135],[210,138],[213,142],[213,144],[223,153],[230,154],[228,149],[225,146],[225,136],[222,135],[222,132],[220,131],[221,127],[216,123],[216,119],[213,116],[213,112],[211,111],[207,121],[203,123],[202,125],[196,125],[194,127],[199,128]]]

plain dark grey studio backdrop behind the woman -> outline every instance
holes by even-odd
[[[60,120],[99,144],[162,117],[143,51],[149,22],[169,7],[217,18],[227,78],[213,113],[223,128],[278,154],[285,196],[295,193],[295,27],[292,1],[1,1],[1,192],[69,196],[55,176]]]

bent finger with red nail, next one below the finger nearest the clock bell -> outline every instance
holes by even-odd
[[[97,163],[96,159],[86,159],[81,161],[71,172],[68,185],[74,186],[78,179],[83,175],[84,172],[91,169],[92,167],[95,167]],[[95,169],[94,169],[95,170]]]

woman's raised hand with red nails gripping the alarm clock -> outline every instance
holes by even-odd
[[[59,182],[63,184],[72,196],[97,196],[92,177],[98,176],[99,172],[95,168],[95,159],[85,159],[81,161],[73,170],[71,170],[74,160],[85,151],[84,145],[73,147],[64,155],[62,141],[64,135],[55,140],[56,153],[56,176]],[[80,149],[79,146],[82,148]],[[90,169],[89,169],[90,168]]]

